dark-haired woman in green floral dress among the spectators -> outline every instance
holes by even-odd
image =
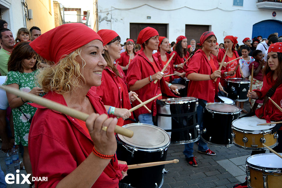
[[[29,42],[21,42],[14,49],[8,61],[8,75],[4,85],[20,89],[35,95],[43,94],[42,88],[36,87],[35,73],[37,70],[36,53],[29,46]],[[28,132],[31,117],[36,108],[28,105],[26,99],[7,93],[12,108],[15,129],[15,145],[20,142],[24,146],[23,162],[26,173],[32,174],[31,162],[28,154]],[[32,175],[31,175],[32,177]]]

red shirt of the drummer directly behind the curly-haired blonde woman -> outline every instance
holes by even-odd
[[[102,83],[97,86],[97,94],[101,97],[104,105],[113,106],[116,108],[126,108],[131,109],[131,103],[129,101],[127,86],[125,85],[122,78],[117,76],[112,70],[107,66],[102,72]],[[131,113],[132,114],[132,113]],[[116,117],[114,115],[109,115],[109,117]],[[132,119],[133,114],[131,115]],[[122,118],[119,118],[121,124],[119,126],[132,123],[131,121],[123,122]],[[125,124],[124,124],[125,123]]]

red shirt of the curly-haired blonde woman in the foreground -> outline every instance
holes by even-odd
[[[87,96],[97,113],[106,113],[100,97],[94,90],[90,89]],[[48,92],[43,97],[67,105],[61,94]],[[35,187],[53,188],[88,157],[93,151],[94,143],[73,117],[35,103],[31,105],[38,108],[28,137],[32,173],[35,177],[48,177],[46,182],[35,181]],[[123,167],[118,164],[115,156],[92,187],[118,188]]]

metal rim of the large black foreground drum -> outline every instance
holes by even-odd
[[[138,124],[138,125],[144,125],[144,126],[154,126],[154,125],[151,125],[151,124],[147,124],[147,123],[129,123],[129,124],[126,124],[124,126],[122,126],[123,128],[125,128],[126,126],[129,126],[129,125],[133,125],[133,124]],[[154,126],[154,128],[157,128],[157,129],[160,129],[160,130],[163,130],[162,128],[158,127],[158,126]],[[131,144],[128,144],[126,142],[124,142],[120,137],[119,135],[120,134],[116,134],[116,137],[118,139],[119,142],[122,142],[123,145],[127,148],[130,148],[130,149],[134,149],[135,151],[147,151],[147,152],[153,152],[153,151],[163,151],[165,150],[165,148],[167,148],[169,145],[170,145],[170,136],[169,134],[163,130],[164,133],[166,133],[166,135],[168,136],[168,142],[167,144],[165,144],[164,146],[161,146],[161,147],[158,147],[158,148],[141,148],[141,147],[138,147],[138,146],[132,146]]]

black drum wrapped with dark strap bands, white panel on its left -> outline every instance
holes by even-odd
[[[158,127],[169,132],[172,144],[192,143],[200,139],[197,98],[171,98],[160,102],[157,105]]]

